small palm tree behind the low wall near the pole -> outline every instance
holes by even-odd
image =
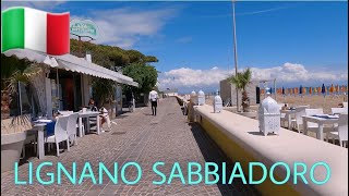
[[[228,78],[229,83],[236,85],[239,90],[242,90],[242,111],[250,111],[250,98],[248,94],[248,86],[251,84],[252,72],[251,69],[248,68],[243,72],[238,72],[236,75],[232,75]]]

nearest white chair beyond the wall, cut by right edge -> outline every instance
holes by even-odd
[[[344,142],[348,142],[348,113],[340,113],[338,126],[335,126],[334,131],[327,134],[333,138],[334,144],[335,139],[339,139],[339,145],[345,147]]]

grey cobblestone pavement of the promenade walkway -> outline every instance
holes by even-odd
[[[227,171],[231,171],[231,162],[224,156],[213,140],[197,124],[186,123],[186,117],[181,112],[174,98],[160,101],[158,115],[153,117],[151,108],[137,108],[133,113],[124,113],[115,121],[118,123],[111,132],[101,135],[88,134],[79,138],[79,145],[71,150],[61,152],[56,157],[55,149],[44,160],[31,158],[19,168],[19,180],[28,182],[28,162],[33,162],[33,184],[14,185],[14,172],[1,174],[1,195],[257,195],[252,186],[233,181],[231,185],[204,184],[188,185],[188,162],[197,162],[203,166],[210,161],[220,164],[227,162]],[[57,171],[57,162],[61,162],[71,173],[72,163],[76,162],[76,182],[82,173],[85,162],[89,162],[98,182],[98,162],[103,162],[113,174],[113,164],[118,162],[119,169],[123,163],[135,161],[142,167],[142,177],[135,185],[127,185],[118,173],[118,183],[115,184],[104,174],[103,183],[96,185],[89,177],[82,184],[73,185],[62,174],[61,184],[43,185],[37,182],[35,169],[43,161],[50,161],[52,167],[43,167],[40,177],[49,181],[47,172]],[[185,176],[185,185],[179,177],[174,177],[171,184],[154,185],[153,181],[161,177],[153,171],[153,164],[157,161],[165,162],[158,167],[167,180],[172,164],[179,162]],[[195,169],[196,170],[196,169]],[[88,172],[87,172],[88,173]],[[230,172],[228,172],[230,173]],[[128,167],[125,179],[136,179],[136,169]],[[209,177],[213,180],[213,176]],[[227,176],[228,179],[228,176]],[[195,179],[195,176],[193,177]],[[227,180],[228,181],[228,180]],[[167,181],[166,181],[167,182]]]

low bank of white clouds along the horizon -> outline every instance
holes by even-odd
[[[277,78],[278,85],[298,86],[345,83],[348,81],[348,70],[345,71],[310,71],[302,64],[285,63],[280,66],[260,69],[251,66],[253,79]],[[241,71],[241,70],[240,70]],[[181,68],[165,72],[159,76],[160,88],[179,88],[198,90],[219,88],[219,82],[232,74],[232,71],[214,66],[209,70],[193,70]]]

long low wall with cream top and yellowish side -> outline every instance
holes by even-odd
[[[196,122],[207,132],[224,152],[233,161],[240,162],[248,175],[249,162],[262,162],[269,171],[272,164],[282,161],[290,167],[291,176],[287,184],[276,185],[267,177],[264,183],[255,185],[263,195],[348,195],[348,149],[316,138],[305,136],[286,128],[280,135],[263,136],[258,131],[257,120],[249,119],[229,111],[213,113],[212,106],[194,107]],[[316,162],[326,162],[332,175],[327,183],[315,185],[310,179],[310,169]],[[293,182],[293,162],[308,166],[304,175],[309,184],[298,176]],[[286,176],[284,167],[277,167],[276,180]],[[317,181],[326,177],[324,167],[314,170]],[[262,177],[262,170],[254,171],[254,180]]]

